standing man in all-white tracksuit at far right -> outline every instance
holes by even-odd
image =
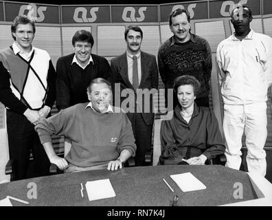
[[[250,29],[251,9],[231,12],[234,34],[219,43],[218,80],[224,102],[223,132],[226,166],[239,170],[245,131],[249,172],[267,171],[267,89],[272,83],[272,39]]]

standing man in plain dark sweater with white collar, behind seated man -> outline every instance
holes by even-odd
[[[111,67],[106,58],[91,54],[93,36],[78,30],[72,39],[73,54],[60,57],[56,64],[56,107],[58,111],[73,104],[88,102],[86,89],[91,80],[110,80]]]

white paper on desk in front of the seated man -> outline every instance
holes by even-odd
[[[87,181],[85,184],[89,201],[115,197],[115,192],[109,179]]]

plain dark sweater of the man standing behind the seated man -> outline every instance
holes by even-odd
[[[91,54],[93,63],[82,69],[76,63],[71,64],[74,55],[62,56],[56,63],[56,107],[59,111],[88,102],[87,87],[91,80],[101,77],[111,81],[111,67],[106,58]]]

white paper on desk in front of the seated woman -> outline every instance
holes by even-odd
[[[192,173],[181,173],[177,175],[170,175],[183,192],[190,192],[195,190],[204,190],[207,188],[199,179]]]

